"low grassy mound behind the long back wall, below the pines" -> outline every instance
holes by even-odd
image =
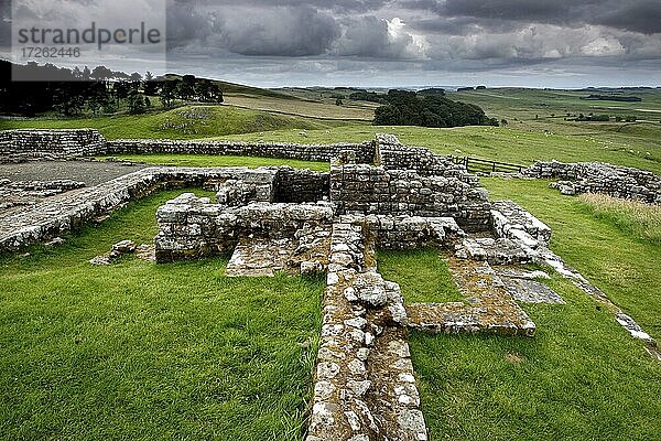
[[[324,121],[230,106],[184,106],[163,112],[78,119],[0,121],[0,129],[93,128],[108,139],[196,139],[293,128],[325,129],[346,122]]]

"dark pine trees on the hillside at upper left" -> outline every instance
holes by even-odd
[[[13,73],[30,82],[12,82]],[[43,80],[48,78],[48,80]],[[57,111],[63,116],[82,114],[115,114],[122,104],[130,114],[142,114],[153,106],[159,97],[164,107],[180,100],[223,103],[218,85],[193,75],[178,77],[154,77],[147,73],[124,74],[105,66],[94,69],[56,67],[52,64],[39,66],[12,65],[0,61],[0,111],[32,117]]]

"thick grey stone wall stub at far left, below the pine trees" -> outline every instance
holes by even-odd
[[[105,151],[106,139],[93,129],[0,131],[0,162],[67,160]]]

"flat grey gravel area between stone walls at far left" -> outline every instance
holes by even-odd
[[[30,161],[0,164],[0,180],[8,179],[14,182],[73,180],[94,186],[145,166],[148,165],[95,161]]]

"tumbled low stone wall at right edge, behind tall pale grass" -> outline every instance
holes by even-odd
[[[563,194],[604,193],[614,197],[661,204],[661,176],[644,170],[602,162],[535,162],[523,172],[538,179],[560,179]]]

